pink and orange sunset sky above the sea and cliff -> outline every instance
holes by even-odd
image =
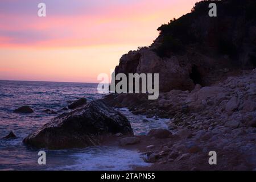
[[[100,82],[199,0],[1,0],[0,80]],[[38,4],[46,4],[46,17]]]

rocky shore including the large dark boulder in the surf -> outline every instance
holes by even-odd
[[[254,170],[256,168],[256,69],[191,92],[171,90],[159,100],[140,94],[109,95],[61,114],[24,139],[52,150],[93,145],[138,150],[150,167],[135,170]],[[134,136],[129,121],[111,106],[169,118],[167,129]],[[138,112],[139,111],[139,112]],[[209,152],[217,165],[209,165]]]

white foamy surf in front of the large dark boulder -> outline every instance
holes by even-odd
[[[76,158],[75,164],[51,170],[123,171],[150,165],[144,162],[139,152],[118,147],[88,147],[86,151],[69,157]]]

